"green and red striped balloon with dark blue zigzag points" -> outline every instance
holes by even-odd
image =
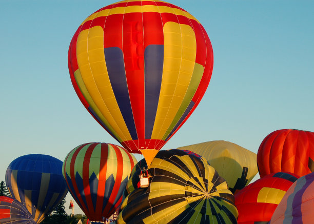
[[[126,149],[106,143],[74,148],[63,163],[63,175],[77,205],[91,221],[103,221],[119,208],[136,159]]]

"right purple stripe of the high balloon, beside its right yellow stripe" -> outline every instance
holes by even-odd
[[[145,49],[145,138],[151,138],[163,76],[164,46]]]

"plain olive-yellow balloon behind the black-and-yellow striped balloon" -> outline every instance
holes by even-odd
[[[256,154],[229,141],[207,141],[178,149],[193,151],[207,159],[232,193],[247,186],[258,172]]]

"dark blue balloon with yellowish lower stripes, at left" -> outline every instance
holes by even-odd
[[[42,154],[14,159],[6,172],[6,185],[11,196],[23,203],[37,223],[68,193],[62,176],[62,161]]]

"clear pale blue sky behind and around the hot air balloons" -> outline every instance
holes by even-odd
[[[16,157],[64,160],[86,142],[115,141],[72,87],[70,40],[115,1],[0,3],[0,180]],[[314,1],[168,1],[197,17],[211,39],[212,78],[199,107],[163,149],[210,140],[255,153],[274,130],[314,131]]]

